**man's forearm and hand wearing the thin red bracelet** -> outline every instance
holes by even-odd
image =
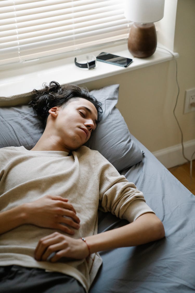
[[[83,235],[84,236],[84,235]],[[110,250],[118,247],[137,246],[156,241],[165,236],[160,219],[153,213],[139,216],[134,222],[117,229],[85,237],[90,252]],[[36,260],[50,259],[56,262],[62,257],[82,259],[89,255],[89,249],[82,239],[73,239],[58,232],[40,239],[35,249]]]

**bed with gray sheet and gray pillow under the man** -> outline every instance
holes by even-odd
[[[92,91],[103,119],[87,146],[99,150],[144,193],[165,228],[165,238],[137,247],[100,252],[103,265],[90,293],[189,293],[195,290],[195,196],[132,134],[116,108],[119,85]],[[27,105],[30,93],[0,98],[0,147],[31,149],[43,132]],[[99,211],[98,232],[127,222]]]

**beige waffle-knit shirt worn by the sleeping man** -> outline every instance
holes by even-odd
[[[68,198],[80,218],[80,229],[75,229],[72,236],[76,239],[97,233],[99,206],[129,222],[152,212],[143,194],[98,151],[83,146],[68,156],[63,151],[0,149],[1,212],[44,195]],[[54,229],[25,224],[1,234],[0,266],[21,265],[62,272],[77,279],[88,292],[102,263],[98,253],[92,254],[89,262],[61,259],[50,263],[34,259],[39,239],[53,232]]]

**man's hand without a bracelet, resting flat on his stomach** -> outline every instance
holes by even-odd
[[[74,234],[74,230],[68,226],[80,228],[80,219],[75,209],[68,203],[68,199],[61,196],[45,195],[34,202],[26,203],[25,211],[25,224],[58,229],[70,235]]]

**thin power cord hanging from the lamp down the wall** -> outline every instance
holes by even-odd
[[[194,153],[192,154],[191,159],[190,159],[190,160],[187,159],[187,157],[186,157],[185,154],[184,154],[183,132],[182,132],[182,129],[181,129],[181,127],[180,127],[180,123],[179,123],[179,121],[177,120],[177,117],[176,117],[176,115],[175,115],[175,109],[176,109],[176,107],[177,107],[178,97],[179,97],[179,94],[180,94],[180,87],[179,87],[179,83],[178,83],[178,80],[177,80],[177,59],[175,58],[174,54],[173,54],[171,51],[169,51],[169,50],[167,50],[167,49],[165,49],[165,48],[162,48],[162,47],[157,47],[157,48],[169,52],[169,53],[172,55],[173,59],[175,60],[175,69],[176,69],[176,70],[175,70],[175,71],[176,71],[175,77],[176,77],[176,83],[177,83],[177,90],[178,90],[178,91],[177,91],[177,98],[176,98],[176,102],[175,102],[175,107],[174,107],[174,109],[173,109],[173,115],[174,115],[174,117],[175,117],[175,120],[177,121],[177,125],[178,125],[178,127],[179,127],[179,129],[180,129],[180,132],[181,132],[182,155],[183,155],[183,157],[184,157],[185,160],[187,160],[188,162],[190,162],[190,179],[192,180],[192,158],[193,158],[193,156],[194,156],[194,154],[195,154],[195,151],[194,151]]]

